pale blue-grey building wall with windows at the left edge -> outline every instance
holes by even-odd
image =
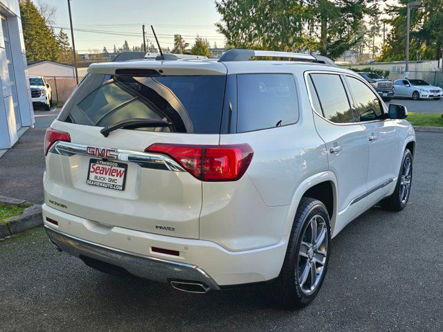
[[[18,0],[0,0],[0,149],[34,124]]]

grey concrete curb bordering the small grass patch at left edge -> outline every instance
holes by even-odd
[[[10,237],[13,234],[30,230],[43,224],[42,205],[29,203],[22,199],[11,199],[10,197],[0,196],[0,203],[6,205],[25,205],[27,208],[22,214],[12,216],[0,223],[0,239]]]

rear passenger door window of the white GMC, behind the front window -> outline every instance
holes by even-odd
[[[354,122],[352,111],[340,75],[311,74],[318,100],[327,120],[336,123]],[[312,93],[313,91],[311,91]]]

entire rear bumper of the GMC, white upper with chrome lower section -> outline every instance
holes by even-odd
[[[230,251],[217,243],[184,239],[109,226],[42,205],[49,238],[64,252],[83,255],[124,268],[146,279],[202,282],[210,289],[278,277],[287,247],[287,237],[273,246]],[[57,221],[53,225],[46,218]],[[60,243],[60,244],[59,244]],[[165,255],[152,248],[176,250]]]

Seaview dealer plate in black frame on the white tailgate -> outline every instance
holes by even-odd
[[[92,165],[99,165],[100,167],[105,167],[104,169],[116,169],[116,172],[121,172],[121,169],[123,169],[123,179],[118,181],[118,177],[121,176],[113,176],[111,175],[111,171],[109,171],[110,174],[93,174],[91,173]],[[94,169],[95,170],[95,169]],[[107,171],[104,171],[107,172]],[[91,178],[92,176],[100,176],[102,179],[99,178]],[[111,190],[117,190],[119,192],[123,192],[125,190],[126,185],[126,176],[127,176],[127,164],[125,163],[117,163],[116,161],[110,161],[110,160],[102,160],[102,159],[96,159],[91,158],[89,159],[89,167],[87,172],[87,178],[86,183],[87,185],[92,185],[93,187],[102,187],[107,188]],[[110,181],[109,179],[114,178],[114,181]]]

